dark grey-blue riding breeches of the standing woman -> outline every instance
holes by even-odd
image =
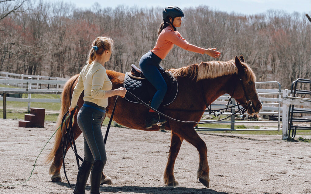
[[[101,160],[106,164],[106,150],[101,124],[104,120],[106,110],[93,102],[84,102],[77,115],[78,126],[84,138],[84,160],[95,162]]]

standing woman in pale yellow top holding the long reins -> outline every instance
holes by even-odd
[[[91,194],[98,194],[101,174],[106,164],[106,151],[101,124],[105,118],[105,107],[108,97],[119,95],[124,97],[125,88],[111,90],[112,83],[108,78],[105,62],[112,53],[113,40],[98,37],[92,43],[87,65],[83,67],[78,82],[73,90],[69,111],[77,106],[81,92],[84,90],[84,104],[77,115],[78,126],[84,138],[84,160],[79,168],[77,184],[73,193],[84,194],[91,169]]]

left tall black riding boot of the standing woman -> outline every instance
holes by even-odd
[[[79,172],[77,176],[77,183],[76,183],[76,187],[73,193],[75,194],[85,193],[85,185],[86,185],[87,179],[89,178],[92,166],[93,166],[92,162],[83,160],[79,168]]]

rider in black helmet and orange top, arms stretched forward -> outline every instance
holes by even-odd
[[[207,54],[214,58],[219,58],[221,54],[220,52],[216,51],[216,48],[204,49],[189,44],[181,36],[181,34],[176,30],[176,27],[181,26],[181,18],[184,17],[183,11],[181,11],[179,7],[165,7],[162,15],[163,22],[159,28],[159,37],[156,42],[156,46],[151,51],[142,56],[139,61],[139,67],[141,68],[142,73],[157,90],[151,100],[150,105],[154,109],[159,108],[167,91],[167,85],[159,71],[159,69],[163,69],[160,66],[160,62],[173,48],[174,44],[182,47],[187,51]],[[166,122],[165,119],[159,120],[158,114],[150,109],[146,117],[146,128],[151,128],[158,121],[161,124]]]

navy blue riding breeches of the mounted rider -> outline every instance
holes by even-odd
[[[167,84],[163,79],[159,69],[162,59],[149,51],[139,61],[139,67],[146,79],[156,88],[156,93],[151,100],[151,107],[158,109],[167,91]]]

